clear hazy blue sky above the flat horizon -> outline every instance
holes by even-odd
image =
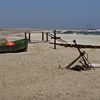
[[[100,28],[100,0],[0,0],[0,28]]]

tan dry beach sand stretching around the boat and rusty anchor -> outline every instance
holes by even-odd
[[[82,35],[62,37],[75,37],[82,43],[86,39]],[[100,36],[85,37],[87,43],[91,39],[100,43]],[[0,100],[100,100],[99,68],[82,72],[61,69],[59,66],[65,68],[79,55],[77,49],[57,46],[54,50],[52,44],[40,42],[40,34],[32,36],[36,40],[27,52],[0,54]],[[91,63],[100,64],[100,49],[85,50]]]

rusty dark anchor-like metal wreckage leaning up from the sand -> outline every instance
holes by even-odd
[[[78,47],[78,45],[76,43],[76,40],[73,40],[73,42],[74,42],[76,48],[78,49],[80,55],[74,61],[72,61],[69,65],[67,65],[65,68],[71,69],[71,70],[76,70],[76,71],[90,70],[90,69],[95,70],[94,67],[91,65],[91,63],[88,60],[88,54],[85,51],[81,51],[80,50],[80,48]],[[87,57],[85,55],[87,55]],[[71,68],[71,66],[77,60],[79,60],[79,63],[81,64],[81,66],[80,65],[76,65],[76,66],[74,66],[74,67]]]

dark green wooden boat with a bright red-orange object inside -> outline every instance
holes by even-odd
[[[8,44],[10,43],[10,45]],[[11,44],[13,43],[13,44]],[[17,53],[27,51],[28,39],[6,41],[0,44],[0,53]]]

